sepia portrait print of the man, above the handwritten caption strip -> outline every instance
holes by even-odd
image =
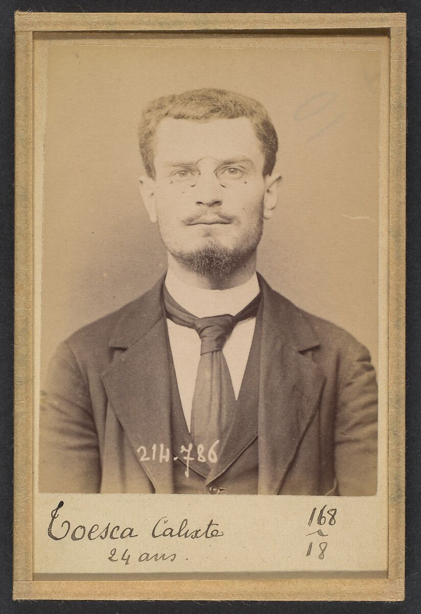
[[[222,42],[49,47],[40,492],[376,494],[380,55]]]

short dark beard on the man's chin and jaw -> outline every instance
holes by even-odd
[[[219,241],[192,251],[171,251],[172,255],[190,271],[201,277],[229,279],[241,265],[256,251],[262,236],[262,223],[257,224],[254,232],[233,247],[226,247]]]

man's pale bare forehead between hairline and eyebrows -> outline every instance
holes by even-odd
[[[247,117],[212,119],[208,122],[165,117],[159,122],[155,138],[158,161],[188,157],[216,159],[262,157],[260,143]]]

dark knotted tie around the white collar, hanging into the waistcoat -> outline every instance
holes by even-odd
[[[256,316],[259,302],[260,293],[236,316],[195,317],[178,305],[164,286],[167,317],[175,324],[194,328],[202,341],[192,402],[191,436],[195,445],[204,446],[206,457],[216,441],[222,443],[235,410],[235,394],[222,348],[238,322]]]

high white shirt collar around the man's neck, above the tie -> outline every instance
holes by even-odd
[[[209,290],[189,286],[169,269],[165,276],[165,287],[178,305],[196,317],[220,316],[224,313],[235,316],[260,292],[256,273],[241,286]]]

